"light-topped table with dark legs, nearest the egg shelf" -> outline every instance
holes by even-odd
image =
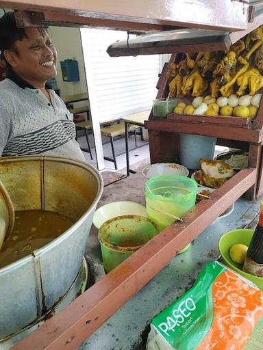
[[[129,116],[123,117],[124,124],[125,124],[125,148],[126,148],[126,167],[127,167],[127,176],[129,176],[129,173],[135,174],[134,170],[129,169],[129,126],[131,124],[138,125],[138,126],[144,126],[145,120],[148,120],[150,110],[148,111],[142,111],[139,113],[130,114]],[[137,146],[136,148],[145,146],[145,144]],[[134,150],[134,148],[132,148]]]

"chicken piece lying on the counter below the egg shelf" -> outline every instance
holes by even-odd
[[[228,178],[235,174],[234,169],[225,161],[208,161],[200,159],[201,170],[195,172],[195,180],[199,185],[218,189]]]

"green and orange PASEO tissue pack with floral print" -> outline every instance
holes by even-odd
[[[262,292],[220,262],[151,322],[147,350],[240,350],[262,316]]]

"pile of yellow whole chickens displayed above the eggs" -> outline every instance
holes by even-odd
[[[171,64],[166,76],[169,98],[254,95],[263,87],[263,26],[231,45],[229,51],[185,53],[185,58]]]

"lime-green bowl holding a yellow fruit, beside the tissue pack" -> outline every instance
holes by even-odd
[[[238,230],[231,230],[223,234],[221,239],[218,241],[218,250],[225,262],[225,265],[233,269],[234,271],[240,273],[240,275],[247,278],[253,282],[258,288],[263,291],[263,278],[257,277],[254,275],[250,275],[247,272],[242,271],[242,265],[237,264],[233,260],[231,260],[229,256],[229,250],[234,244],[245,244],[249,246],[249,243],[252,239],[254,230],[249,230],[245,228],[239,228]]]

